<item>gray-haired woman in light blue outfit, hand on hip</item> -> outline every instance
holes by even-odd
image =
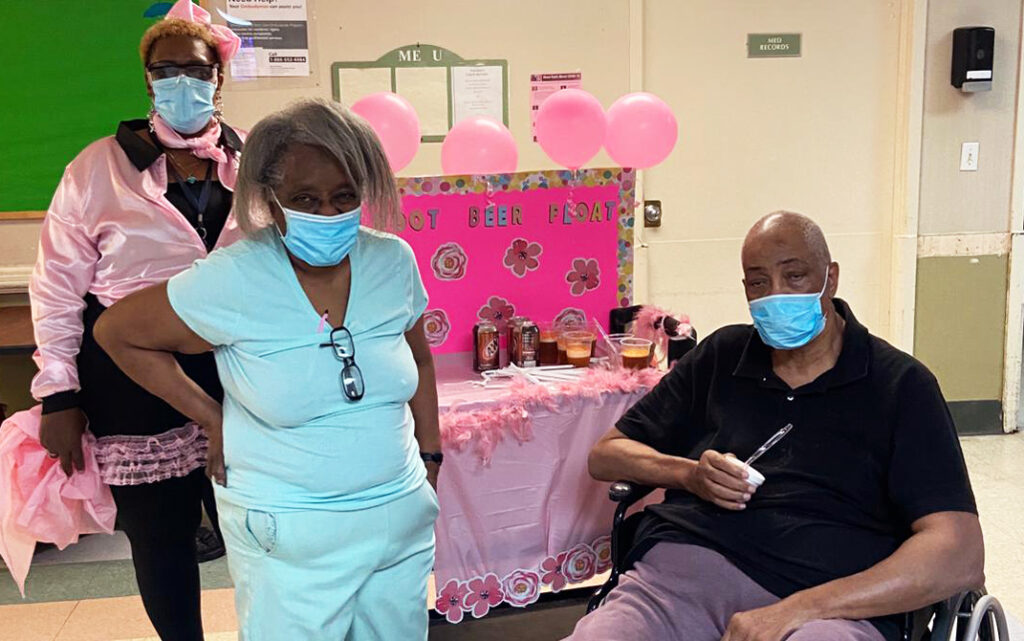
[[[441,461],[416,260],[369,125],[305,100],[249,135],[249,238],[123,299],[96,325],[117,364],[210,437],[246,641],[427,638]],[[223,407],[174,352],[213,349]]]

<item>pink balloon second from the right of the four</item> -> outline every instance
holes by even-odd
[[[601,103],[583,89],[562,89],[537,113],[537,141],[548,158],[580,169],[601,149],[606,119]]]

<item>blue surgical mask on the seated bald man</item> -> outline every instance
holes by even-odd
[[[797,349],[814,340],[825,329],[821,297],[825,284],[817,294],[776,294],[752,300],[751,316],[765,345],[775,349]]]

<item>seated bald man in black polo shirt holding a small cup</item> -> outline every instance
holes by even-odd
[[[706,339],[591,453],[595,478],[668,489],[574,641],[896,639],[897,613],[983,584],[932,374],[835,298],[839,265],[810,219],[760,220],[742,267],[754,327]],[[788,424],[756,487],[741,461]]]

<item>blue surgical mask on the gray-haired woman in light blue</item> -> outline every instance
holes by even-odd
[[[278,200],[276,196],[273,198]],[[281,201],[278,201],[278,207],[285,213],[288,225],[281,238],[292,256],[299,260],[314,267],[331,267],[343,261],[355,246],[360,207],[334,216],[317,216],[286,209]]]

